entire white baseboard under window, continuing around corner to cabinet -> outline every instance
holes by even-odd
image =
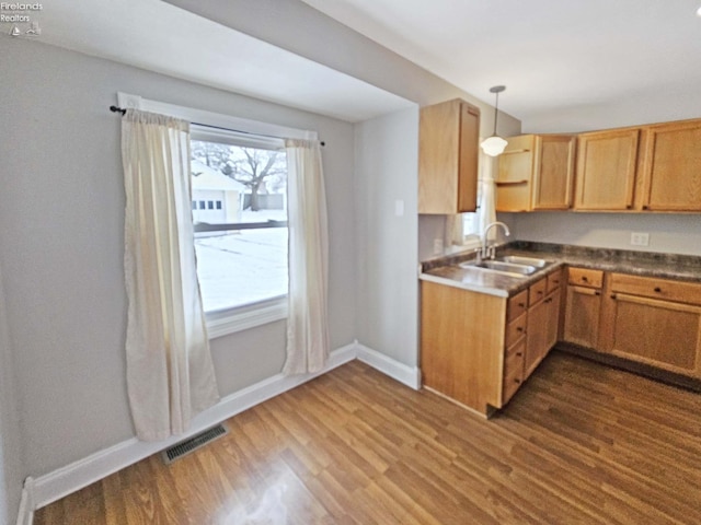
[[[329,357],[329,363],[323,371],[317,374],[297,376],[277,374],[225,397],[216,406],[198,415],[193,420],[187,434],[156,443],[143,442],[131,438],[57,470],[39,476],[36,479],[32,480],[32,478],[27,478],[30,483],[25,483],[22,500],[24,511],[21,511],[18,517],[18,525],[32,525],[33,511],[36,509],[60,500],[145,457],[168,448],[191,435],[195,435],[203,430],[226,421],[237,413],[290,390],[356,358],[411,388],[418,389],[421,387],[421,371],[417,368],[407,366],[383,353],[354,341],[350,345],[332,351]]]

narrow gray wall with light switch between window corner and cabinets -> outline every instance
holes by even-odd
[[[357,334],[417,364],[418,109],[356,125]],[[397,214],[397,201],[404,208]]]

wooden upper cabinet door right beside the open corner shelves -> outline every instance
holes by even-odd
[[[575,138],[543,135],[536,139],[533,210],[566,210],[572,205]]]

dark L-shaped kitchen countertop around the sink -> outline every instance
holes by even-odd
[[[701,257],[677,254],[657,254],[608,248],[590,248],[550,243],[516,241],[497,249],[497,256],[524,255],[545,259],[549,264],[527,277],[509,277],[462,268],[460,262],[474,259],[468,252],[422,262],[420,279],[464,290],[507,298],[527,289],[533,282],[564,265],[616,271],[635,276],[701,282]]]

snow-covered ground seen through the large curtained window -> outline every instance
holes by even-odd
[[[242,222],[286,220],[284,210],[244,211]],[[195,240],[205,312],[287,294],[287,229],[241,230]]]

